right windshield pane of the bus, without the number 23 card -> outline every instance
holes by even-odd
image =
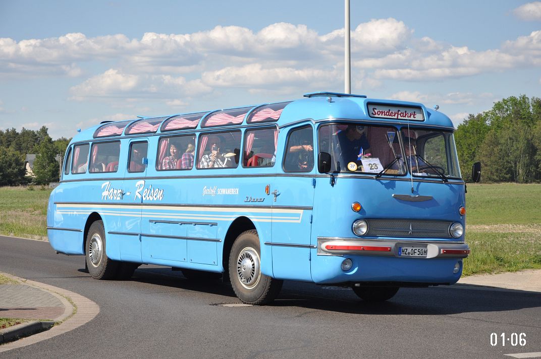
[[[461,178],[452,132],[415,128],[401,132],[405,162],[413,176]]]

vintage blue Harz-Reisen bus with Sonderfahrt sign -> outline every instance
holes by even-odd
[[[164,265],[249,304],[284,280],[367,301],[454,284],[470,249],[453,131],[420,103],[334,92],[104,122],[69,144],[49,241],[96,279]]]

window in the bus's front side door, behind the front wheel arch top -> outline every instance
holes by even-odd
[[[314,135],[312,127],[289,132],[283,170],[286,172],[310,172],[314,168]]]

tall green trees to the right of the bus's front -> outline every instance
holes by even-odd
[[[481,162],[483,182],[541,181],[541,99],[511,96],[469,115],[454,134],[462,176]]]

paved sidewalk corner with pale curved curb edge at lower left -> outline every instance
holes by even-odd
[[[17,284],[0,285],[0,317],[30,321],[0,330],[0,344],[23,337],[1,345],[0,353],[66,333],[100,313],[96,303],[72,291],[1,274]]]

